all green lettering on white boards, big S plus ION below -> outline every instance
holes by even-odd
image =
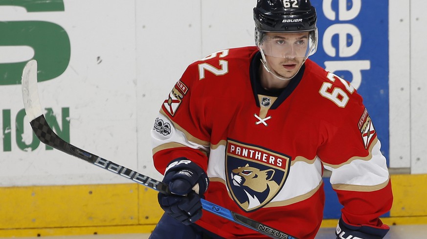
[[[21,7],[25,9],[19,14],[31,15],[36,12],[46,12],[43,16],[49,16],[47,12],[64,12],[63,0],[0,0],[2,7]],[[19,18],[16,12],[11,12],[14,19]],[[35,15],[33,15],[35,16]],[[57,15],[52,15],[57,16]],[[20,54],[18,47],[30,47],[38,61],[38,81],[52,80],[60,76],[67,69],[70,60],[70,41],[66,30],[60,25],[49,20],[6,20],[0,16],[0,47],[8,49],[16,56],[1,56],[0,63],[0,87],[4,85],[21,84],[22,70],[28,60],[17,62]],[[28,18],[25,18],[28,19]],[[32,151],[40,146],[40,140],[32,132],[31,128],[24,124],[25,111],[19,110],[16,117],[12,115],[13,109],[2,109],[2,151],[10,152],[13,148],[24,151]],[[56,112],[58,113],[58,112]],[[58,117],[58,115],[61,115]],[[45,118],[54,131],[64,140],[69,142],[69,108],[61,109],[61,114],[55,114],[51,108],[46,108]],[[59,122],[58,122],[59,121]],[[62,127],[60,127],[60,125]],[[15,129],[15,130],[13,130]],[[32,136],[32,138],[31,138]],[[15,140],[14,140],[15,139]],[[14,142],[15,141],[15,142]],[[14,145],[16,145],[14,147]],[[45,149],[52,149],[45,146]]]

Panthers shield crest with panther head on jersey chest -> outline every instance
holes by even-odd
[[[291,157],[260,146],[227,140],[226,183],[233,200],[246,212],[267,205],[282,189]]]

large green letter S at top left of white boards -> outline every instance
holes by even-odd
[[[27,12],[64,11],[63,0],[0,0],[0,8],[2,6],[23,7]],[[39,82],[54,79],[67,69],[70,41],[64,28],[56,23],[39,20],[1,21],[0,16],[0,36],[0,47],[27,46],[33,49],[33,59],[38,61]],[[2,58],[6,63],[0,63],[0,86],[21,84],[22,69],[27,60],[7,62],[7,56]]]

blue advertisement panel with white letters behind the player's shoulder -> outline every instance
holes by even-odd
[[[388,162],[388,0],[312,0],[312,4],[317,11],[319,44],[310,59],[357,89]],[[325,190],[324,218],[339,218],[341,206],[328,179]]]

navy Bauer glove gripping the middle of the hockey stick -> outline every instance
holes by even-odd
[[[159,193],[160,207],[171,217],[189,225],[202,217],[203,193],[209,185],[206,173],[199,165],[186,158],[173,160],[166,168],[163,181],[171,195]]]

